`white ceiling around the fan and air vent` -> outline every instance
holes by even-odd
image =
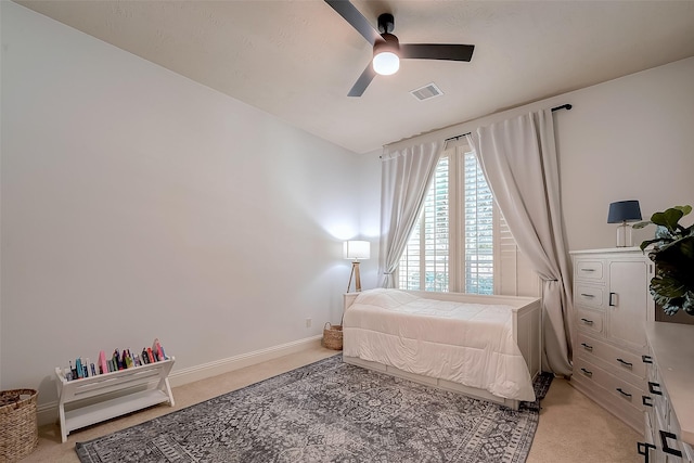
[[[22,1],[356,153],[694,56],[694,1],[363,1],[401,43],[471,43],[470,63],[404,60],[361,98],[364,38],[321,0]],[[435,82],[444,95],[409,92]]]

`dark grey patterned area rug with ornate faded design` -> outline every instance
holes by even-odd
[[[544,397],[551,375],[536,381]],[[520,410],[343,363],[337,355],[75,446],[82,463],[525,462]]]

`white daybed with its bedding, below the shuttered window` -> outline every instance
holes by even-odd
[[[540,300],[376,288],[345,294],[346,363],[502,403],[535,400]]]

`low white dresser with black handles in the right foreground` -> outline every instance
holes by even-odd
[[[648,389],[644,442],[645,462],[694,461],[694,326],[668,322],[646,324]]]

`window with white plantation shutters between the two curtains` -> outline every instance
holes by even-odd
[[[398,287],[537,295],[528,272],[475,153],[467,145],[445,152],[400,258]]]

